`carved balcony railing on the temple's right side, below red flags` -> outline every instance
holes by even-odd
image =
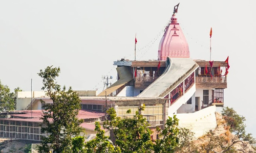
[[[226,77],[209,77],[208,75],[198,75],[196,77],[196,86],[197,88],[219,88],[225,89],[227,88],[227,78]]]

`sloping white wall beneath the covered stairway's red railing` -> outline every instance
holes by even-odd
[[[172,115],[172,114],[176,114],[177,110],[187,102],[187,100],[192,97],[194,95],[194,93],[196,92],[196,85],[194,84],[193,86],[190,87],[190,89],[188,89],[186,91],[186,93],[181,96],[179,99],[177,99],[172,105],[170,105],[170,107],[168,108],[168,114]],[[195,102],[194,102],[195,103]],[[194,104],[195,105],[195,104]]]

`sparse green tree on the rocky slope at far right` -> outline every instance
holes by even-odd
[[[246,134],[246,124],[244,123],[246,119],[244,116],[237,114],[233,108],[229,107],[224,107],[221,113],[226,120],[227,125],[230,126],[231,133],[236,134],[239,139],[248,141],[250,144],[255,145],[255,138],[253,138],[250,133]]]

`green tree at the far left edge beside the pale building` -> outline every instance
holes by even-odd
[[[0,112],[13,111],[16,109],[16,92],[22,91],[19,87],[10,92],[7,85],[3,85],[0,81]]]

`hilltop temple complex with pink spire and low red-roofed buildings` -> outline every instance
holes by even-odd
[[[164,129],[166,119],[176,115],[179,126],[200,137],[217,126],[216,107],[224,106],[227,88],[228,58],[225,61],[194,60],[176,17],[178,6],[164,30],[159,43],[157,60],[117,60],[118,80],[104,91],[77,91],[81,99],[79,118],[87,129],[88,139],[95,137],[93,122],[105,119],[112,107],[117,116],[130,118],[142,106],[142,115],[151,124]],[[188,24],[188,23],[187,23]],[[157,50],[156,50],[157,52]],[[225,59],[225,58],[224,58]],[[31,100],[32,99],[32,100]],[[0,137],[41,140],[39,120],[44,105],[53,103],[42,91],[18,92],[15,112],[0,118]],[[127,110],[131,110],[127,114]],[[30,116],[30,110],[31,116]],[[111,133],[106,131],[111,136]],[[152,139],[158,139],[153,133]]]

